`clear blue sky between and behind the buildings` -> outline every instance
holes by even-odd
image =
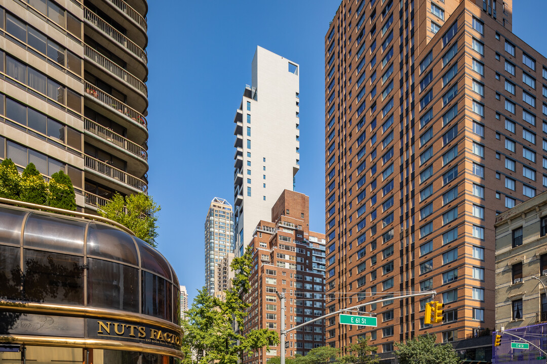
[[[300,64],[300,171],[310,229],[324,232],[324,35],[339,0],[149,1],[149,192],[159,250],[190,304],[205,280],[203,224],[234,200],[234,115],[257,45]],[[547,55],[547,1],[514,0],[513,32]]]

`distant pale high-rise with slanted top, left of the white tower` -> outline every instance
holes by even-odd
[[[216,197],[211,201],[205,217],[205,286],[211,296],[222,298],[222,292],[228,289],[233,250],[232,205]]]

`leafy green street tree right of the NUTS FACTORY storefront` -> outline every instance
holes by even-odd
[[[247,308],[251,306],[242,300],[243,295],[251,290],[251,267],[251,248],[248,248],[241,258],[234,258],[232,261],[231,268],[235,271],[235,278],[232,288],[226,292],[224,302],[208,295],[205,287],[198,292],[187,312],[188,321],[182,323],[182,351],[195,351],[197,358],[193,361],[188,355],[184,359],[185,364],[236,364],[245,355],[279,343],[275,331],[251,330],[246,336],[242,336],[232,327],[233,321],[242,327]]]

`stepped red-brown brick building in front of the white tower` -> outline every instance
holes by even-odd
[[[271,210],[271,222],[260,220],[250,243],[253,249],[251,291],[243,297],[251,303],[242,333],[270,329],[280,332],[281,302],[286,295],[286,328],[324,314],[325,235],[310,231],[309,201],[304,194],[284,190]],[[287,335],[287,357],[304,355],[323,346],[324,322],[316,321]],[[280,347],[243,361],[266,363],[281,355]]]

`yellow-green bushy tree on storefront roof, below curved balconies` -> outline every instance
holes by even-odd
[[[116,193],[106,205],[98,210],[98,214],[126,226],[135,233],[135,236],[156,247],[155,238],[158,237],[156,214],[160,210],[160,205],[154,202],[152,196],[142,192],[125,198]]]

